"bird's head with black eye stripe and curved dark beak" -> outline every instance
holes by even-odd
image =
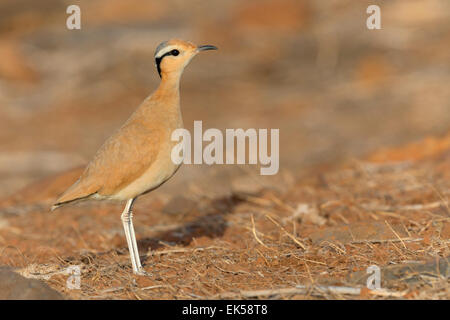
[[[204,50],[217,50],[217,48],[211,45],[196,46],[191,42],[178,39],[162,42],[155,51],[155,63],[159,76],[162,78],[163,75],[181,75],[189,61]]]

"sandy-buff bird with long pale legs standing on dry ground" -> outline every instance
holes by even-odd
[[[155,50],[155,65],[161,81],[129,119],[112,134],[88,163],[80,178],[51,207],[84,200],[126,201],[121,220],[133,273],[148,274],[142,267],[133,226],[135,200],[160,187],[179,169],[171,159],[174,130],[183,127],[180,109],[180,78],[191,59],[213,45],[197,46],[171,39]]]

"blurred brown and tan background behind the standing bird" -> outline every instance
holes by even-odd
[[[373,3],[2,0],[0,192],[85,164],[156,88],[154,49],[174,37],[220,48],[186,69],[186,127],[279,128],[282,170],[445,133],[450,3],[376,1],[382,30],[368,30]]]

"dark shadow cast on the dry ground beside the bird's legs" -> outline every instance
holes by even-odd
[[[161,232],[154,237],[144,238],[138,241],[140,252],[148,252],[164,247],[163,243],[178,246],[188,246],[194,238],[217,238],[223,236],[227,229],[225,216],[233,211],[233,208],[242,200],[235,196],[214,199],[210,203],[209,212],[194,221],[188,222],[173,230]],[[143,263],[148,255],[142,257]]]

